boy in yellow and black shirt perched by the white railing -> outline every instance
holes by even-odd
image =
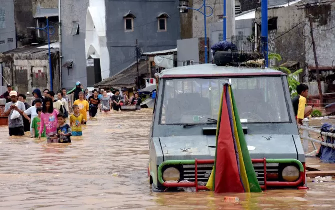
[[[302,125],[302,120],[308,117],[313,111],[312,106],[306,106],[307,97],[308,97],[308,89],[309,88],[307,85],[299,84],[296,87],[298,96],[292,99],[296,122],[301,125]]]

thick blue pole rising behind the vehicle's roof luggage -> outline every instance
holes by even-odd
[[[261,1],[261,36],[262,36],[262,53],[265,59],[265,67],[268,67],[268,30],[267,30],[267,0]]]

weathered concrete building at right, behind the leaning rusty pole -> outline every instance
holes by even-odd
[[[270,65],[282,65],[304,69],[302,82],[316,81],[315,60],[310,36],[309,15],[313,22],[316,54],[321,73],[321,81],[328,87],[324,92],[335,92],[335,2],[321,0],[295,0],[289,4],[271,6],[268,9],[268,49],[278,53],[282,61]],[[261,13],[256,11],[255,22],[258,31]],[[310,83],[314,84],[314,83]],[[313,88],[312,88],[313,89]]]

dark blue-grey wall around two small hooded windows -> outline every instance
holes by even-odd
[[[134,62],[136,39],[144,52],[176,47],[176,41],[180,39],[178,0],[106,0],[105,5],[107,46],[110,54],[109,76],[117,74]],[[123,16],[129,10],[136,16],[134,31],[125,32]],[[158,32],[157,15],[161,12],[169,15],[166,32]]]

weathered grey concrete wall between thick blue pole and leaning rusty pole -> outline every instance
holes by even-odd
[[[278,17],[277,30],[268,31],[269,53],[278,53],[282,57],[281,62],[272,62],[270,65],[278,65],[286,61],[294,60],[299,61],[300,68],[303,68],[305,66],[304,24],[300,22],[304,17],[304,11],[302,9],[298,10],[295,4],[288,7],[268,9],[268,17]],[[261,18],[261,13],[260,11],[256,11],[256,19],[259,18]],[[298,23],[300,24],[292,29]]]

